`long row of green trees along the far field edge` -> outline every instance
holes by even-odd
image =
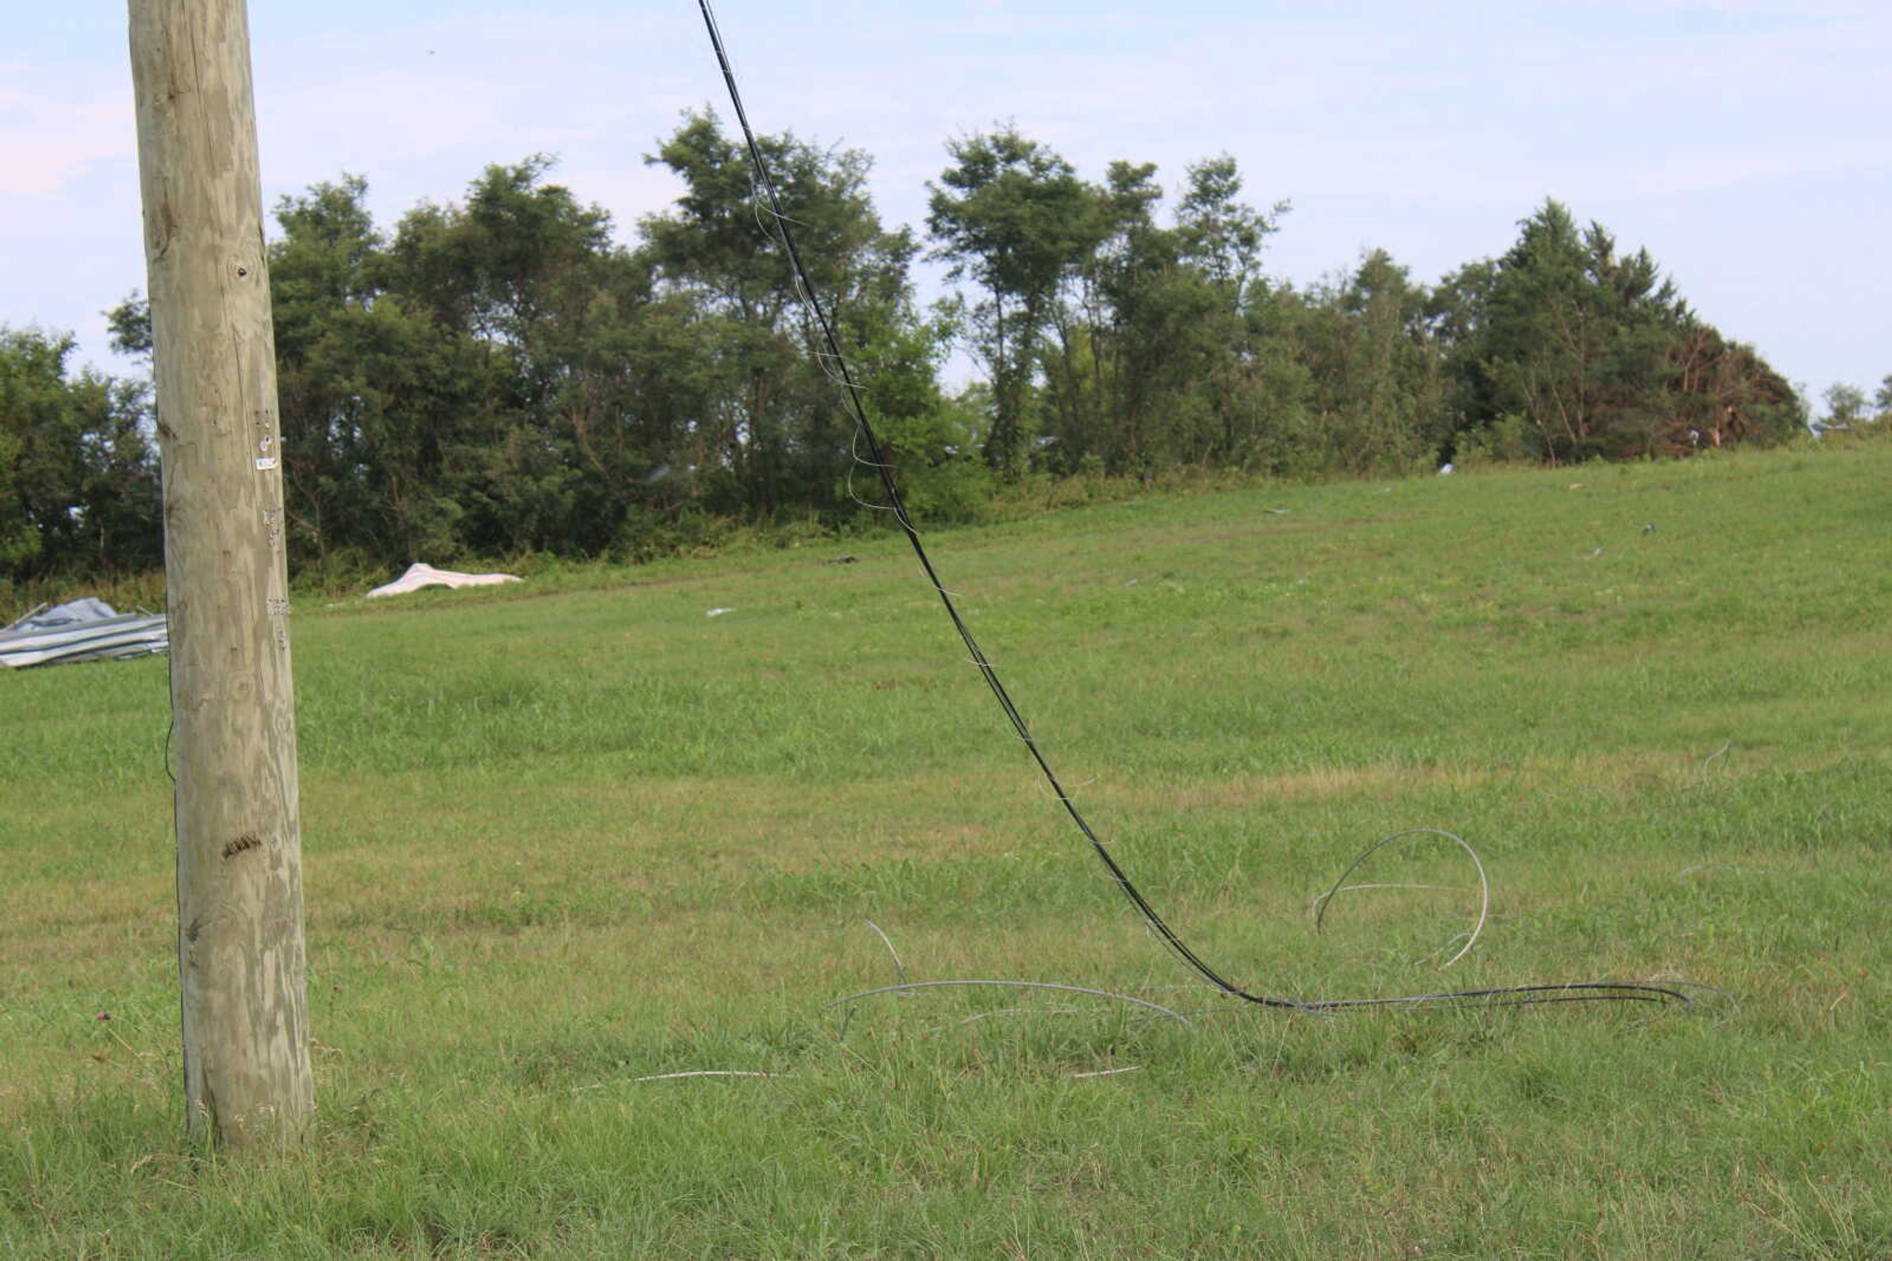
[[[1084,180],[1014,127],[946,146],[925,236],[880,221],[868,157],[761,142],[921,520],[1027,476],[1383,476],[1445,459],[1688,456],[1780,442],[1805,405],[1695,316],[1646,250],[1546,200],[1436,285],[1385,251],[1292,285],[1288,206],[1234,159]],[[732,520],[863,520],[872,478],[759,204],[710,112],[647,159],[683,193],[621,244],[534,157],[382,231],[344,176],[269,248],[291,558],[333,571],[554,552],[638,560]],[[954,285],[923,306],[914,263]],[[149,318],[110,312],[115,348]],[[959,348],[982,380],[950,389]],[[0,329],[0,577],[157,563],[149,391]],[[1869,420],[1871,405],[1858,405]],[[1892,380],[1879,412],[1892,410]]]

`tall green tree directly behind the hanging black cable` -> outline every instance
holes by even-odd
[[[918,318],[908,268],[912,236],[882,227],[867,193],[868,159],[821,149],[791,134],[757,142],[781,214],[821,293],[850,371],[889,429],[937,429],[940,329]],[[844,505],[853,461],[851,422],[810,323],[770,208],[757,199],[747,153],[713,113],[685,115],[647,161],[677,174],[675,208],[639,223],[639,261],[692,340],[691,423],[674,437],[672,463],[694,469],[706,503],[727,512]],[[940,433],[950,431],[940,429]],[[908,442],[895,442],[906,450]]]

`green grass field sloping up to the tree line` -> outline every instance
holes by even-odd
[[[0,1255],[1892,1257],[1892,450],[929,543],[1234,979],[1729,996],[1190,987],[893,537],[303,601],[322,1119],[288,1161],[182,1136],[163,660],[0,675]],[[1440,972],[1476,890],[1430,843],[1353,879],[1445,889],[1317,936],[1417,826],[1483,856],[1478,947]],[[844,1030],[897,979],[868,919],[912,979],[1192,1023],[940,989]],[[643,1080],[696,1070],[772,1076]]]

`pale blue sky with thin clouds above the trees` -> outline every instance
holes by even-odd
[[[1247,4],[723,0],[764,130],[863,147],[920,225],[952,134],[1014,119],[1092,178],[1232,153],[1290,199],[1268,268],[1383,246],[1421,280],[1546,195],[1646,244],[1695,308],[1818,395],[1892,372],[1892,0]],[[560,155],[628,234],[641,163],[715,104],[694,0],[255,4],[263,195],[363,174],[384,225],[484,163]],[[144,285],[125,11],[26,6],[0,43],[0,323],[79,333]]]

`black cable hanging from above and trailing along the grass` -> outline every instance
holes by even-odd
[[[1171,928],[1164,921],[1164,917],[1158,915],[1156,907],[1150,906],[1148,898],[1143,896],[1143,890],[1139,890],[1131,883],[1130,875],[1124,872],[1122,866],[1118,866],[1109,847],[1105,847],[1103,839],[1092,830],[1082,811],[1078,811],[1077,802],[1071,800],[1069,792],[1065,792],[1065,786],[1063,783],[1060,783],[1058,773],[1046,760],[1044,751],[1039,749],[1037,739],[1033,739],[1031,728],[1025,724],[1025,717],[1018,711],[1018,705],[1012,703],[1010,692],[1007,692],[1005,684],[999,681],[999,673],[993,667],[991,658],[988,658],[984,648],[980,648],[978,639],[974,639],[972,635],[972,628],[967,626],[965,618],[959,614],[959,605],[954,601],[952,592],[948,592],[946,586],[940,582],[938,571],[933,567],[933,560],[927,556],[927,550],[920,541],[920,531],[914,527],[912,518],[906,514],[906,503],[901,499],[899,486],[895,486],[893,463],[887,459],[885,448],[880,442],[880,435],[868,422],[867,403],[863,397],[865,391],[861,388],[861,382],[853,371],[853,365],[840,350],[840,340],[834,335],[834,323],[829,318],[827,308],[821,304],[821,297],[819,293],[815,293],[814,282],[808,276],[808,267],[802,263],[802,253],[795,244],[795,231],[791,227],[793,219],[789,219],[789,216],[783,214],[781,195],[776,189],[776,181],[768,172],[768,163],[762,161],[762,149],[755,140],[755,129],[749,125],[749,112],[742,104],[742,91],[736,87],[736,72],[730,68],[728,49],[723,43],[723,32],[715,21],[715,9],[711,8],[710,0],[696,0],[696,2],[704,17],[704,26],[710,32],[710,43],[715,49],[717,66],[723,72],[723,83],[728,87],[730,108],[736,112],[736,123],[742,129],[744,146],[749,155],[749,168],[753,172],[753,183],[757,189],[757,208],[755,208],[757,223],[764,227],[764,233],[768,231],[770,225],[774,225],[774,240],[781,242],[781,250],[787,255],[789,267],[793,270],[795,287],[800,293],[802,302],[806,304],[806,312],[812,323],[812,333],[815,335],[817,340],[815,354],[821,359],[823,369],[836,382],[836,386],[842,391],[842,397],[846,399],[850,418],[853,420],[855,425],[855,437],[867,444],[867,456],[863,458],[859,454],[859,446],[855,446],[853,459],[857,465],[874,471],[874,475],[880,478],[882,490],[887,495],[885,503],[867,505],[867,507],[891,512],[893,520],[899,522],[901,531],[906,535],[906,541],[914,548],[914,558],[920,561],[920,569],[925,573],[925,579],[933,586],[933,592],[940,597],[940,603],[946,609],[946,616],[952,620],[954,630],[965,643],[972,665],[978,667],[980,677],[986,681],[986,686],[991,690],[993,700],[1005,713],[1005,720],[1012,724],[1012,730],[1025,743],[1025,749],[1031,752],[1031,760],[1037,764],[1039,773],[1044,777],[1044,783],[1050,788],[1052,796],[1058,798],[1058,803],[1063,807],[1065,815],[1071,817],[1071,822],[1090,843],[1092,853],[1103,864],[1105,872],[1109,872],[1118,890],[1122,890],[1124,898],[1128,898],[1130,904],[1137,909],[1137,913],[1143,915],[1145,923],[1150,926],[1156,938],[1177,959],[1181,959],[1188,968],[1192,968],[1198,976],[1209,981],[1209,985],[1213,985],[1215,989],[1222,991],[1232,998],[1241,998],[1254,1006],[1273,1008],[1279,1011],[1338,1011],[1345,1008],[1377,1008],[1394,1004],[1531,1006],[1548,1002],[1676,1002],[1682,1006],[1691,1006],[1690,998],[1682,993],[1680,987],[1648,983],[1648,981],[1574,981],[1563,985],[1514,985],[1502,989],[1406,994],[1396,998],[1323,998],[1323,1000],[1283,998],[1243,989],[1241,985],[1230,981],[1220,972],[1217,972],[1205,959],[1201,959],[1196,951],[1188,947],[1188,943],[1175,932],[1175,928]],[[851,471],[848,488],[850,493],[853,493]],[[969,981],[969,983],[984,985],[986,981]],[[927,985],[946,985],[946,981],[929,981]],[[901,989],[906,987],[889,987],[889,991],[885,993],[895,993]],[[870,991],[870,993],[884,993],[884,991]]]

